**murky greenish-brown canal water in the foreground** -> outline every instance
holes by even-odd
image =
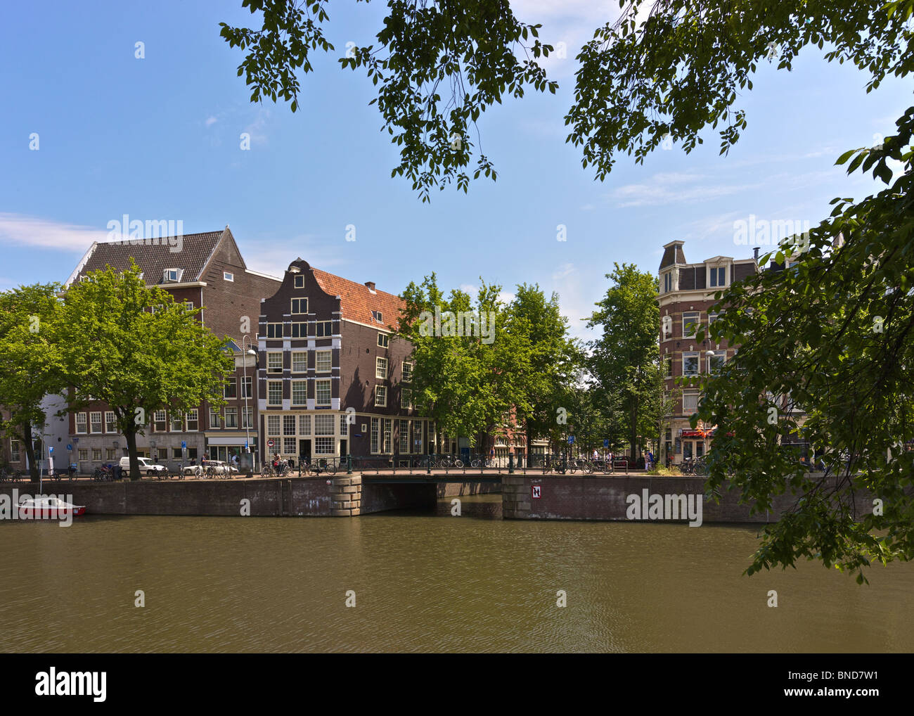
[[[503,521],[499,501],[5,521],[0,651],[914,649],[914,565],[745,577],[754,527]]]

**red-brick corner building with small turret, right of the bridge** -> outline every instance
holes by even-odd
[[[679,464],[685,458],[701,457],[711,443],[714,426],[689,424],[698,407],[697,389],[682,390],[675,385],[680,376],[712,373],[724,361],[736,354],[736,346],[726,342],[712,344],[710,339],[699,342],[696,332],[700,326],[713,322],[711,312],[714,294],[731,283],[759,272],[756,258],[733,259],[715,256],[703,262],[685,261],[683,241],[664,245],[660,262],[660,356],[664,362],[664,397],[668,410],[660,431],[660,460]]]

